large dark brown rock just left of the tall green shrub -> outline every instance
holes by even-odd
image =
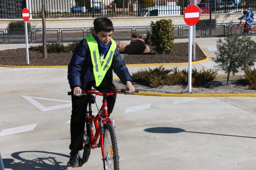
[[[146,48],[145,42],[141,38],[134,38],[130,45],[125,47],[126,54],[142,54]]]

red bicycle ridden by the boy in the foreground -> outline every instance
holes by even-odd
[[[135,91],[138,93],[139,91]],[[80,95],[88,95],[88,108],[86,113],[84,128],[84,141],[83,149],[79,151],[79,166],[81,167],[88,161],[90,156],[90,150],[97,147],[101,147],[102,161],[104,170],[119,170],[119,155],[115,134],[115,120],[108,117],[108,105],[107,96],[115,93],[133,93],[123,89],[116,89],[116,91],[82,91]],[[91,104],[95,102],[95,96],[93,94],[103,96],[103,104],[96,116],[93,115]],[[73,92],[68,92],[68,95],[73,95]],[[97,106],[97,105],[96,105]],[[97,107],[98,108],[98,107]],[[93,123],[96,132],[93,133]],[[99,139],[99,143],[97,144]]]

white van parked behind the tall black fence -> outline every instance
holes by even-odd
[[[180,15],[180,6],[151,6],[148,8],[143,8],[143,10],[140,11],[138,17],[169,17],[177,15]]]

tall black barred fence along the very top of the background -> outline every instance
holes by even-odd
[[[44,0],[47,18],[58,17],[125,17],[183,15],[189,0]],[[238,0],[239,1],[239,0]],[[202,14],[210,13],[210,0],[198,6]],[[244,7],[256,10],[256,0],[212,0],[212,13],[241,12]],[[28,8],[32,18],[41,18],[41,0],[0,0],[0,18],[21,18]]]

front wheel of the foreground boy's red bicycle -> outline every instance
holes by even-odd
[[[104,170],[119,170],[119,155],[116,142],[116,134],[111,123],[104,125]]]

